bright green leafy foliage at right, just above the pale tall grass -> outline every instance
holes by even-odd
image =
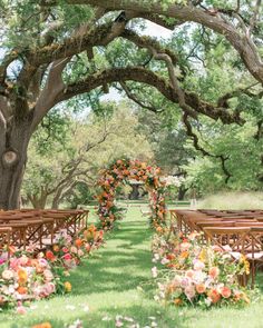
[[[262,190],[262,140],[255,139],[256,128],[253,121],[244,127],[218,126],[208,122],[201,128],[206,139],[213,135],[213,141],[206,149],[213,155],[224,155],[227,176],[220,159],[197,156],[183,166],[187,171],[187,185],[196,187],[201,195],[218,190]],[[207,140],[207,139],[206,139]],[[238,163],[238,165],[237,165]]]

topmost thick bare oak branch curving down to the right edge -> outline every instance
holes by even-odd
[[[67,2],[71,4],[100,6],[108,10],[132,10],[140,12],[142,16],[145,13],[159,14],[175,18],[179,21],[193,21],[201,23],[215,32],[223,34],[240,53],[251,74],[256,80],[263,82],[263,63],[257,50],[252,47],[249,39],[245,40],[244,36],[238,33],[237,29],[232,23],[226,22],[216,13],[212,14],[210,11],[194,6],[171,4],[168,7],[164,7],[159,2],[149,3],[148,1],[138,0],[68,0]],[[53,4],[55,3],[56,1]]]

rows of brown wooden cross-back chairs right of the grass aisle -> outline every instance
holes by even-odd
[[[242,255],[251,264],[254,286],[256,269],[263,265],[262,210],[171,210],[172,226],[182,236],[203,232],[203,242],[228,251],[233,259]]]

